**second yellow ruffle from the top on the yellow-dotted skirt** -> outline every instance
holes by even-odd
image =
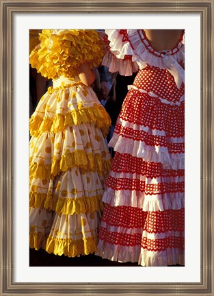
[[[76,150],[62,156],[60,160],[53,159],[51,164],[40,164],[29,160],[30,177],[39,178],[40,180],[55,179],[60,171],[67,171],[73,167],[84,169],[85,172],[96,171],[98,175],[107,175],[111,167],[111,159],[103,159],[100,153],[94,156],[92,153],[85,153],[84,150]]]

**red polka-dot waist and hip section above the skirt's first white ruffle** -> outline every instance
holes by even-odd
[[[140,93],[131,88],[124,99],[120,119],[129,123],[143,125],[153,130],[165,131],[168,137],[185,134],[185,103],[180,103],[184,95],[184,85],[178,89],[174,77],[165,69],[147,65],[135,77],[133,86],[154,93],[157,97]],[[158,97],[180,106],[162,103]]]

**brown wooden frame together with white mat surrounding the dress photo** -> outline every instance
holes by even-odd
[[[0,295],[214,295],[213,0],[4,1],[0,32]],[[185,30],[185,265],[29,260],[29,29]]]

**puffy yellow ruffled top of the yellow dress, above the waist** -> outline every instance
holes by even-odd
[[[94,29],[43,29],[40,47],[30,54],[30,63],[44,77],[56,79],[77,75],[85,62],[98,66],[104,56],[103,41]]]

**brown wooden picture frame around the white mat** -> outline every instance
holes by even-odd
[[[123,3],[94,1],[1,1],[0,75],[0,295],[214,295],[213,258],[213,0],[135,0]],[[13,23],[18,13],[136,12],[197,13],[201,19],[201,279],[198,283],[19,283],[14,282],[14,73]]]

